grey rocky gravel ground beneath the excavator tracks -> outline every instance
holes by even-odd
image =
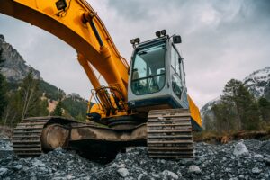
[[[11,146],[0,139],[0,179],[270,179],[270,140],[196,143],[192,161],[151,159],[146,148],[130,148],[106,165],[61,148],[18,158]]]

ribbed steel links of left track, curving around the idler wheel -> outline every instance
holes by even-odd
[[[38,157],[42,154],[40,137],[49,117],[28,118],[14,129],[12,142],[14,153],[19,157]]]

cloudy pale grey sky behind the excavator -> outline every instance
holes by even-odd
[[[155,38],[166,29],[177,45],[188,94],[200,107],[222,93],[231,79],[243,80],[270,66],[270,1],[267,0],[87,0],[99,14],[121,55],[130,61],[130,39]],[[44,80],[68,94],[88,98],[92,85],[76,50],[47,31],[0,14],[0,34]]]

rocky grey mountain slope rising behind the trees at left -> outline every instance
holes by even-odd
[[[63,90],[55,85],[50,85],[42,79],[40,71],[26,64],[26,61],[14,47],[4,40],[4,35],[0,34],[0,58],[4,59],[3,67],[1,68],[2,75],[5,76],[10,92],[16,92],[23,78],[30,72],[33,78],[39,79],[39,89],[42,93],[40,99],[48,101],[47,109],[52,112],[61,99],[64,106],[64,112],[73,118],[85,118],[87,101],[79,96],[79,94],[66,94]],[[10,100],[11,101],[11,100]],[[82,118],[83,116],[83,118]]]

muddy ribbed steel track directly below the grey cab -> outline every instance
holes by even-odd
[[[148,113],[148,155],[154,158],[193,158],[191,115],[188,110]]]

